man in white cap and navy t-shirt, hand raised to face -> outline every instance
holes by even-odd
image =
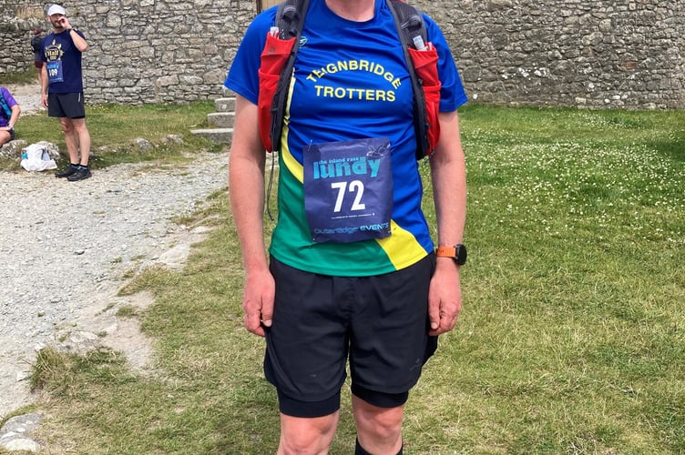
[[[47,18],[53,33],[43,41],[42,59],[46,65],[42,69],[41,103],[47,107],[48,116],[59,119],[69,151],[69,167],[56,172],[55,177],[76,182],[91,177],[90,133],[86,126],[81,63],[88,44],[83,33],[69,24],[63,6],[50,6]]]

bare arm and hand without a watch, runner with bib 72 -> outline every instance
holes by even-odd
[[[257,106],[236,96],[236,119],[229,157],[230,207],[238,231],[245,288],[245,328],[264,336],[271,326],[275,285],[264,247],[264,165]]]

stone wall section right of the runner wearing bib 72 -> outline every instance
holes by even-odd
[[[442,25],[479,101],[685,107],[683,0],[412,1]]]

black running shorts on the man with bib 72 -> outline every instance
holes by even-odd
[[[383,408],[404,404],[437,337],[429,337],[429,255],[373,277],[303,272],[271,258],[273,324],[266,330],[266,378],[281,412],[321,417],[340,408],[349,358],[352,391]]]

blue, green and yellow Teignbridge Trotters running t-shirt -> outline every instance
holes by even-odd
[[[258,102],[261,51],[276,8],[258,15],[240,44],[225,86]],[[438,49],[440,110],[454,111],[465,91],[445,36],[424,15]],[[312,0],[284,118],[279,174],[279,219],[270,252],[294,268],[339,276],[369,276],[413,265],[434,245],[421,210],[423,187],[415,160],[412,84],[400,37],[385,0],[373,19],[353,22]],[[353,243],[312,240],[304,212],[303,152],[306,146],[388,137],[392,151],[392,235]]]

